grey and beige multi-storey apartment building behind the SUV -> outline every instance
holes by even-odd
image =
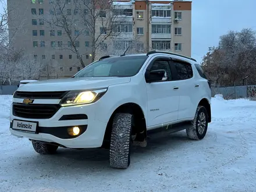
[[[41,79],[70,77],[82,68],[81,59],[88,65],[93,54],[92,36],[81,22],[72,28],[74,42],[70,42],[65,29],[46,22],[56,14],[52,8],[56,1],[66,3],[73,23],[84,19],[77,11],[76,3],[80,0],[7,1],[12,45],[42,63]],[[111,4],[108,10],[99,10],[95,34],[101,45],[94,50],[95,59],[123,54],[127,48],[127,54],[156,49],[191,56],[191,1],[119,0]],[[104,23],[109,26],[109,20],[116,23],[112,35],[104,27]]]

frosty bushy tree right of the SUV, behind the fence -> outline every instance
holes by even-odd
[[[255,79],[256,36],[254,30],[229,31],[220,37],[219,45],[222,50],[221,55],[216,54],[220,51],[216,50],[211,56],[205,55],[202,63],[212,79],[218,79],[218,83],[222,85],[232,86],[243,83],[244,77],[248,75],[251,76],[249,81]]]

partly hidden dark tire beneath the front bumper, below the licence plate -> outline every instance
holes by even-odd
[[[31,142],[34,150],[38,152],[38,154],[55,154],[58,149],[57,145],[51,145],[35,140],[32,140]]]

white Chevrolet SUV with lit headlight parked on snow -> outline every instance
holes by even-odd
[[[171,52],[104,56],[70,79],[19,87],[10,132],[40,154],[58,147],[108,147],[112,168],[130,165],[131,145],[151,130],[186,129],[201,140],[211,122],[211,89],[195,59]]]

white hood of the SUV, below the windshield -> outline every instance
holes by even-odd
[[[17,91],[71,91],[104,88],[115,84],[129,83],[130,77],[84,77],[52,79],[27,83]]]

